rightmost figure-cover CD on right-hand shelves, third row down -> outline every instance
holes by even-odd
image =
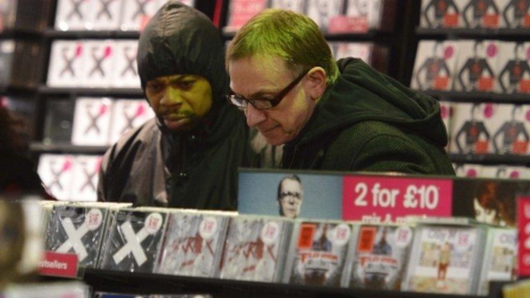
[[[498,155],[527,155],[529,152],[530,106],[498,104],[491,123],[491,144]]]

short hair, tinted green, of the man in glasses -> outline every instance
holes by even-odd
[[[226,50],[226,68],[230,61],[255,55],[281,57],[294,76],[315,66],[324,68],[328,84],[334,83],[339,76],[337,64],[317,24],[289,10],[263,10],[248,21]]]

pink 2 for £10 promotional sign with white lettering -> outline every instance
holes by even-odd
[[[345,220],[398,221],[407,215],[449,217],[453,181],[346,176],[342,193]]]

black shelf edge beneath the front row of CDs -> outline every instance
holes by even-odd
[[[80,277],[95,291],[130,294],[210,294],[213,297],[337,297],[337,298],[502,298],[502,286],[491,282],[488,296],[448,295],[425,292],[367,290],[362,288],[331,288],[292,284],[235,281],[201,277],[157,275],[152,273],[121,272],[86,269]],[[43,277],[56,280],[57,277]]]

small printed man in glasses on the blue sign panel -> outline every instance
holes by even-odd
[[[304,191],[297,175],[284,177],[278,184],[279,215],[295,219],[300,214]]]

